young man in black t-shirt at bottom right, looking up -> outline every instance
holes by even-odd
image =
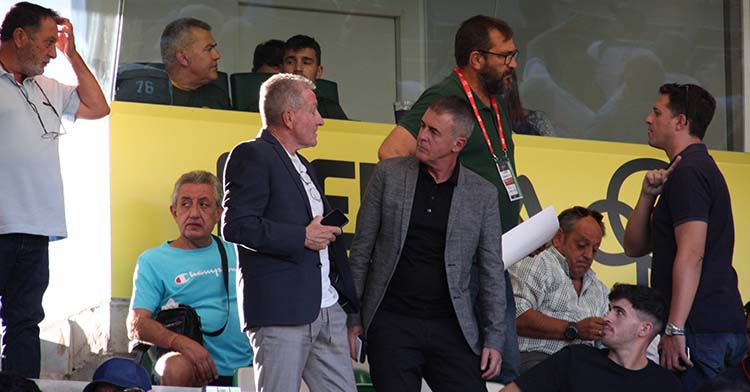
[[[602,337],[608,349],[568,346],[503,391],[682,391],[674,374],[646,358],[666,322],[665,299],[648,287],[615,284],[609,300]]]

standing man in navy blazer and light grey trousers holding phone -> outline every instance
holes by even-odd
[[[259,391],[354,391],[346,313],[356,311],[341,229],[313,167],[323,119],[308,79],[277,74],[260,90],[263,130],[237,145],[224,173],[226,240],[238,244],[241,321]],[[340,245],[340,246],[338,246]]]

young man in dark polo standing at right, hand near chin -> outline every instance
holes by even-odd
[[[714,97],[694,84],[665,84],[659,94],[646,117],[648,143],[664,150],[670,165],[646,174],[623,246],[632,257],[653,252],[651,287],[671,303],[661,365],[693,391],[738,365],[747,348],[732,267],[732,203],[703,144]]]

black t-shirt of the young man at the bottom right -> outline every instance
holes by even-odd
[[[608,350],[585,345],[566,347],[516,379],[523,392],[682,391],[672,372],[648,361],[626,369],[607,357]]]

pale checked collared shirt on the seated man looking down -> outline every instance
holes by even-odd
[[[609,289],[589,269],[583,276],[581,295],[573,287],[568,262],[551,246],[534,258],[516,263],[508,270],[513,282],[516,317],[529,309],[560,320],[578,322],[587,317],[604,317],[609,308]],[[518,337],[521,352],[554,354],[563,347],[582,343],[554,339]],[[585,343],[585,342],[584,342]],[[589,342],[590,343],[590,342]]]

